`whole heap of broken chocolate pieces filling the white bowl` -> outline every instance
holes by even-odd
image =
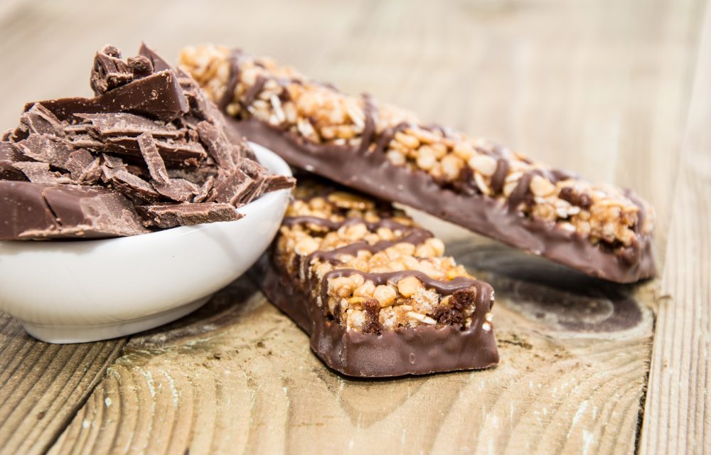
[[[195,80],[107,45],[95,97],[33,102],[0,142],[0,240],[102,238],[237,220],[269,175]]]

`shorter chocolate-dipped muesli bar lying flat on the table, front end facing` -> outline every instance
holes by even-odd
[[[252,269],[267,297],[344,375],[498,363],[493,289],[387,203],[299,178],[272,251]]]

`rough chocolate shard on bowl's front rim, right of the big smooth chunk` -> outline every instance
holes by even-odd
[[[201,223],[235,221],[242,218],[230,204],[193,203],[172,205],[142,205],[137,207],[146,223],[157,228],[175,228]]]

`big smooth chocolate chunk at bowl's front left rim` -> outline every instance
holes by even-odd
[[[0,215],[0,240],[149,232],[126,198],[104,188],[0,181]]]

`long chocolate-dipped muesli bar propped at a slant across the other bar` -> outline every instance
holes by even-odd
[[[424,124],[240,50],[188,47],[181,64],[236,129],[295,166],[596,277],[655,274],[654,211],[632,191]]]

